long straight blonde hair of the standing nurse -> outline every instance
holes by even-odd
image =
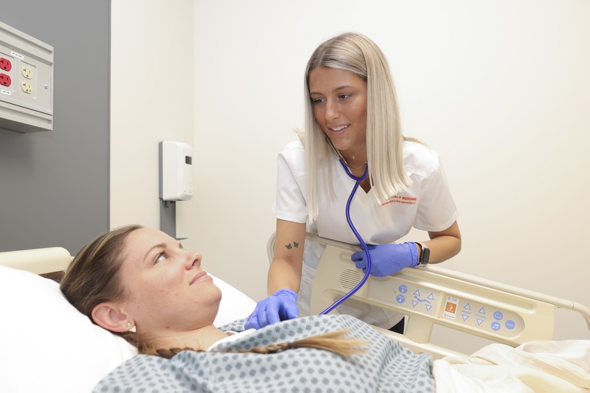
[[[329,157],[334,157],[330,141],[314,118],[310,98],[310,71],[317,67],[342,69],[366,81],[366,146],[369,182],[378,202],[385,202],[412,184],[403,165],[403,134],[396,89],[385,55],[369,38],[344,33],[323,42],[312,53],[305,69],[305,168],[307,207],[310,221],[317,217],[321,190],[334,196]],[[327,173],[318,168],[326,167]]]

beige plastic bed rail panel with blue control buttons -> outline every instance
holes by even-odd
[[[326,247],[314,280],[312,313],[328,308],[364,277],[351,262],[351,254]],[[370,277],[350,300],[408,315],[405,335],[418,342],[430,340],[433,324],[507,344],[553,338],[553,304],[487,286],[478,277],[463,274],[457,279],[450,273],[427,267]]]

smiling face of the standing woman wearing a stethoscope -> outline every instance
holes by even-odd
[[[310,71],[308,84],[315,120],[332,145],[345,158],[362,152],[366,159],[364,79],[341,69],[317,67]]]

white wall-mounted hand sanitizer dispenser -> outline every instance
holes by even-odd
[[[193,149],[183,142],[160,141],[160,199],[189,200],[193,194]]]

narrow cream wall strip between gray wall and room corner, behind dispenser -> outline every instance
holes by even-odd
[[[193,2],[112,1],[110,226],[160,227],[158,142],[194,143]],[[193,249],[194,199],[176,202]]]

